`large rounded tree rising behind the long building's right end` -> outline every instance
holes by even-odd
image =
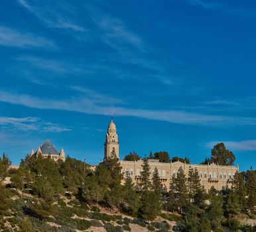
[[[218,143],[212,148],[211,162],[220,165],[233,165],[233,162],[235,162],[235,155],[225,148],[224,143]]]

